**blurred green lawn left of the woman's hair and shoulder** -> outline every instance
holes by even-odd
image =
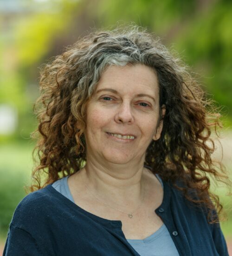
[[[17,204],[26,195],[32,170],[31,142],[0,147],[0,237],[6,235]]]

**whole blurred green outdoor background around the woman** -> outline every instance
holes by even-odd
[[[30,181],[33,103],[39,67],[92,28],[134,22],[159,36],[198,74],[208,97],[222,106],[224,129],[215,158],[232,173],[231,0],[0,0],[0,247],[13,211]],[[232,175],[230,175],[232,176]],[[232,243],[232,199],[215,192],[228,220],[221,226]]]

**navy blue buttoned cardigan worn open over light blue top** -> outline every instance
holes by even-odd
[[[181,192],[163,182],[155,212],[168,228],[180,256],[228,256],[219,224],[208,224]],[[3,256],[139,256],[122,232],[121,221],[95,216],[52,185],[27,195],[16,208]]]

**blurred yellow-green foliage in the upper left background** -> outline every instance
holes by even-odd
[[[32,0],[26,7],[33,5],[41,7]],[[16,17],[6,13],[10,19],[1,20],[7,29],[0,35],[0,103],[15,107],[19,121],[16,133],[0,135],[0,141],[22,141],[36,127],[32,106],[39,95],[39,66],[51,57],[56,40],[65,34],[77,7],[77,1],[53,0],[50,9]]]

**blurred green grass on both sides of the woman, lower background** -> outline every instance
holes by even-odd
[[[0,243],[5,243],[14,209],[26,195],[23,187],[30,182],[33,147],[31,141],[0,146]],[[232,170],[230,173],[232,174]],[[226,240],[231,240],[232,200],[226,196],[226,189],[223,187],[216,187],[214,192],[223,202],[228,217],[227,221],[221,222],[221,228]]]

